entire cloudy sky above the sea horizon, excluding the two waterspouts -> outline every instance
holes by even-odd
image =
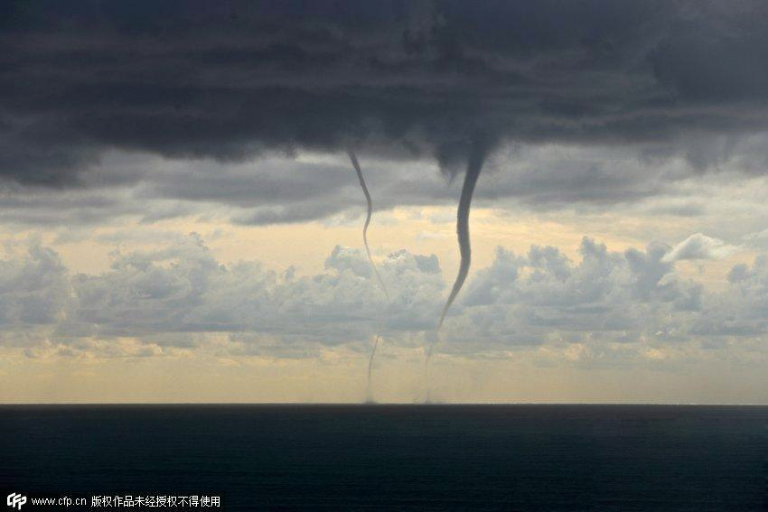
[[[0,44],[0,402],[768,403],[763,2],[18,1]]]

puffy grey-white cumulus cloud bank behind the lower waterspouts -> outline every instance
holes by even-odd
[[[470,279],[438,350],[480,357],[565,347],[607,354],[599,362],[613,364],[610,354],[627,351],[664,358],[687,348],[687,358],[701,358],[716,347],[738,354],[764,346],[768,260],[735,265],[727,288],[713,292],[681,279],[664,259],[669,249],[615,253],[585,238],[572,262],[556,247],[524,255],[499,247]],[[33,357],[44,347],[135,357],[137,346],[152,356],[224,336],[229,355],[311,357],[347,346],[364,358],[377,329],[370,319],[383,310],[389,345],[425,344],[446,293],[437,257],[401,250],[379,264],[389,304],[364,254],[345,247],[332,251],[323,273],[298,276],[255,262],[221,265],[196,236],[164,250],[116,253],[98,275],[72,275],[52,250],[32,246],[0,265],[2,342]]]

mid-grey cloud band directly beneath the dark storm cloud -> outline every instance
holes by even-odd
[[[768,148],[768,139],[759,140]],[[754,137],[752,144],[757,142]],[[747,161],[754,163],[755,159]],[[430,159],[369,158],[361,163],[377,209],[455,204],[460,183],[447,182]],[[0,221],[76,228],[120,219],[151,223],[186,216],[267,225],[340,214],[353,218],[364,211],[354,172],[342,153],[298,158],[270,154],[244,163],[113,153],[105,155],[100,165],[82,176],[90,183],[88,187],[0,186]],[[635,213],[656,217],[716,214],[712,219],[716,222],[722,216],[746,216],[748,198],[738,199],[735,188],[754,191],[764,187],[762,177],[737,165],[732,160],[727,171],[698,174],[683,157],[659,160],[625,147],[505,144],[486,163],[476,201],[479,206],[537,212],[589,209],[623,213],[632,207]],[[99,182],[99,176],[110,172],[135,175],[136,180]],[[725,191],[731,191],[733,197],[721,199]],[[637,209],[643,202],[648,206]],[[763,204],[764,200],[754,198],[751,208]],[[727,210],[731,206],[734,208]],[[745,232],[729,233],[730,243],[764,228],[755,224],[759,218],[755,212],[749,212],[752,220],[733,223],[732,228]],[[725,237],[726,233],[716,229],[713,235]]]

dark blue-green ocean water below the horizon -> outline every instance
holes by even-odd
[[[5,405],[0,449],[0,490],[27,496],[219,495],[226,510],[768,510],[764,406]]]

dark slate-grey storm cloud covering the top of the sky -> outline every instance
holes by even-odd
[[[454,169],[478,133],[669,154],[768,128],[762,2],[9,2],[0,16],[0,174],[25,184],[89,184],[116,148],[240,161],[356,144]]]

